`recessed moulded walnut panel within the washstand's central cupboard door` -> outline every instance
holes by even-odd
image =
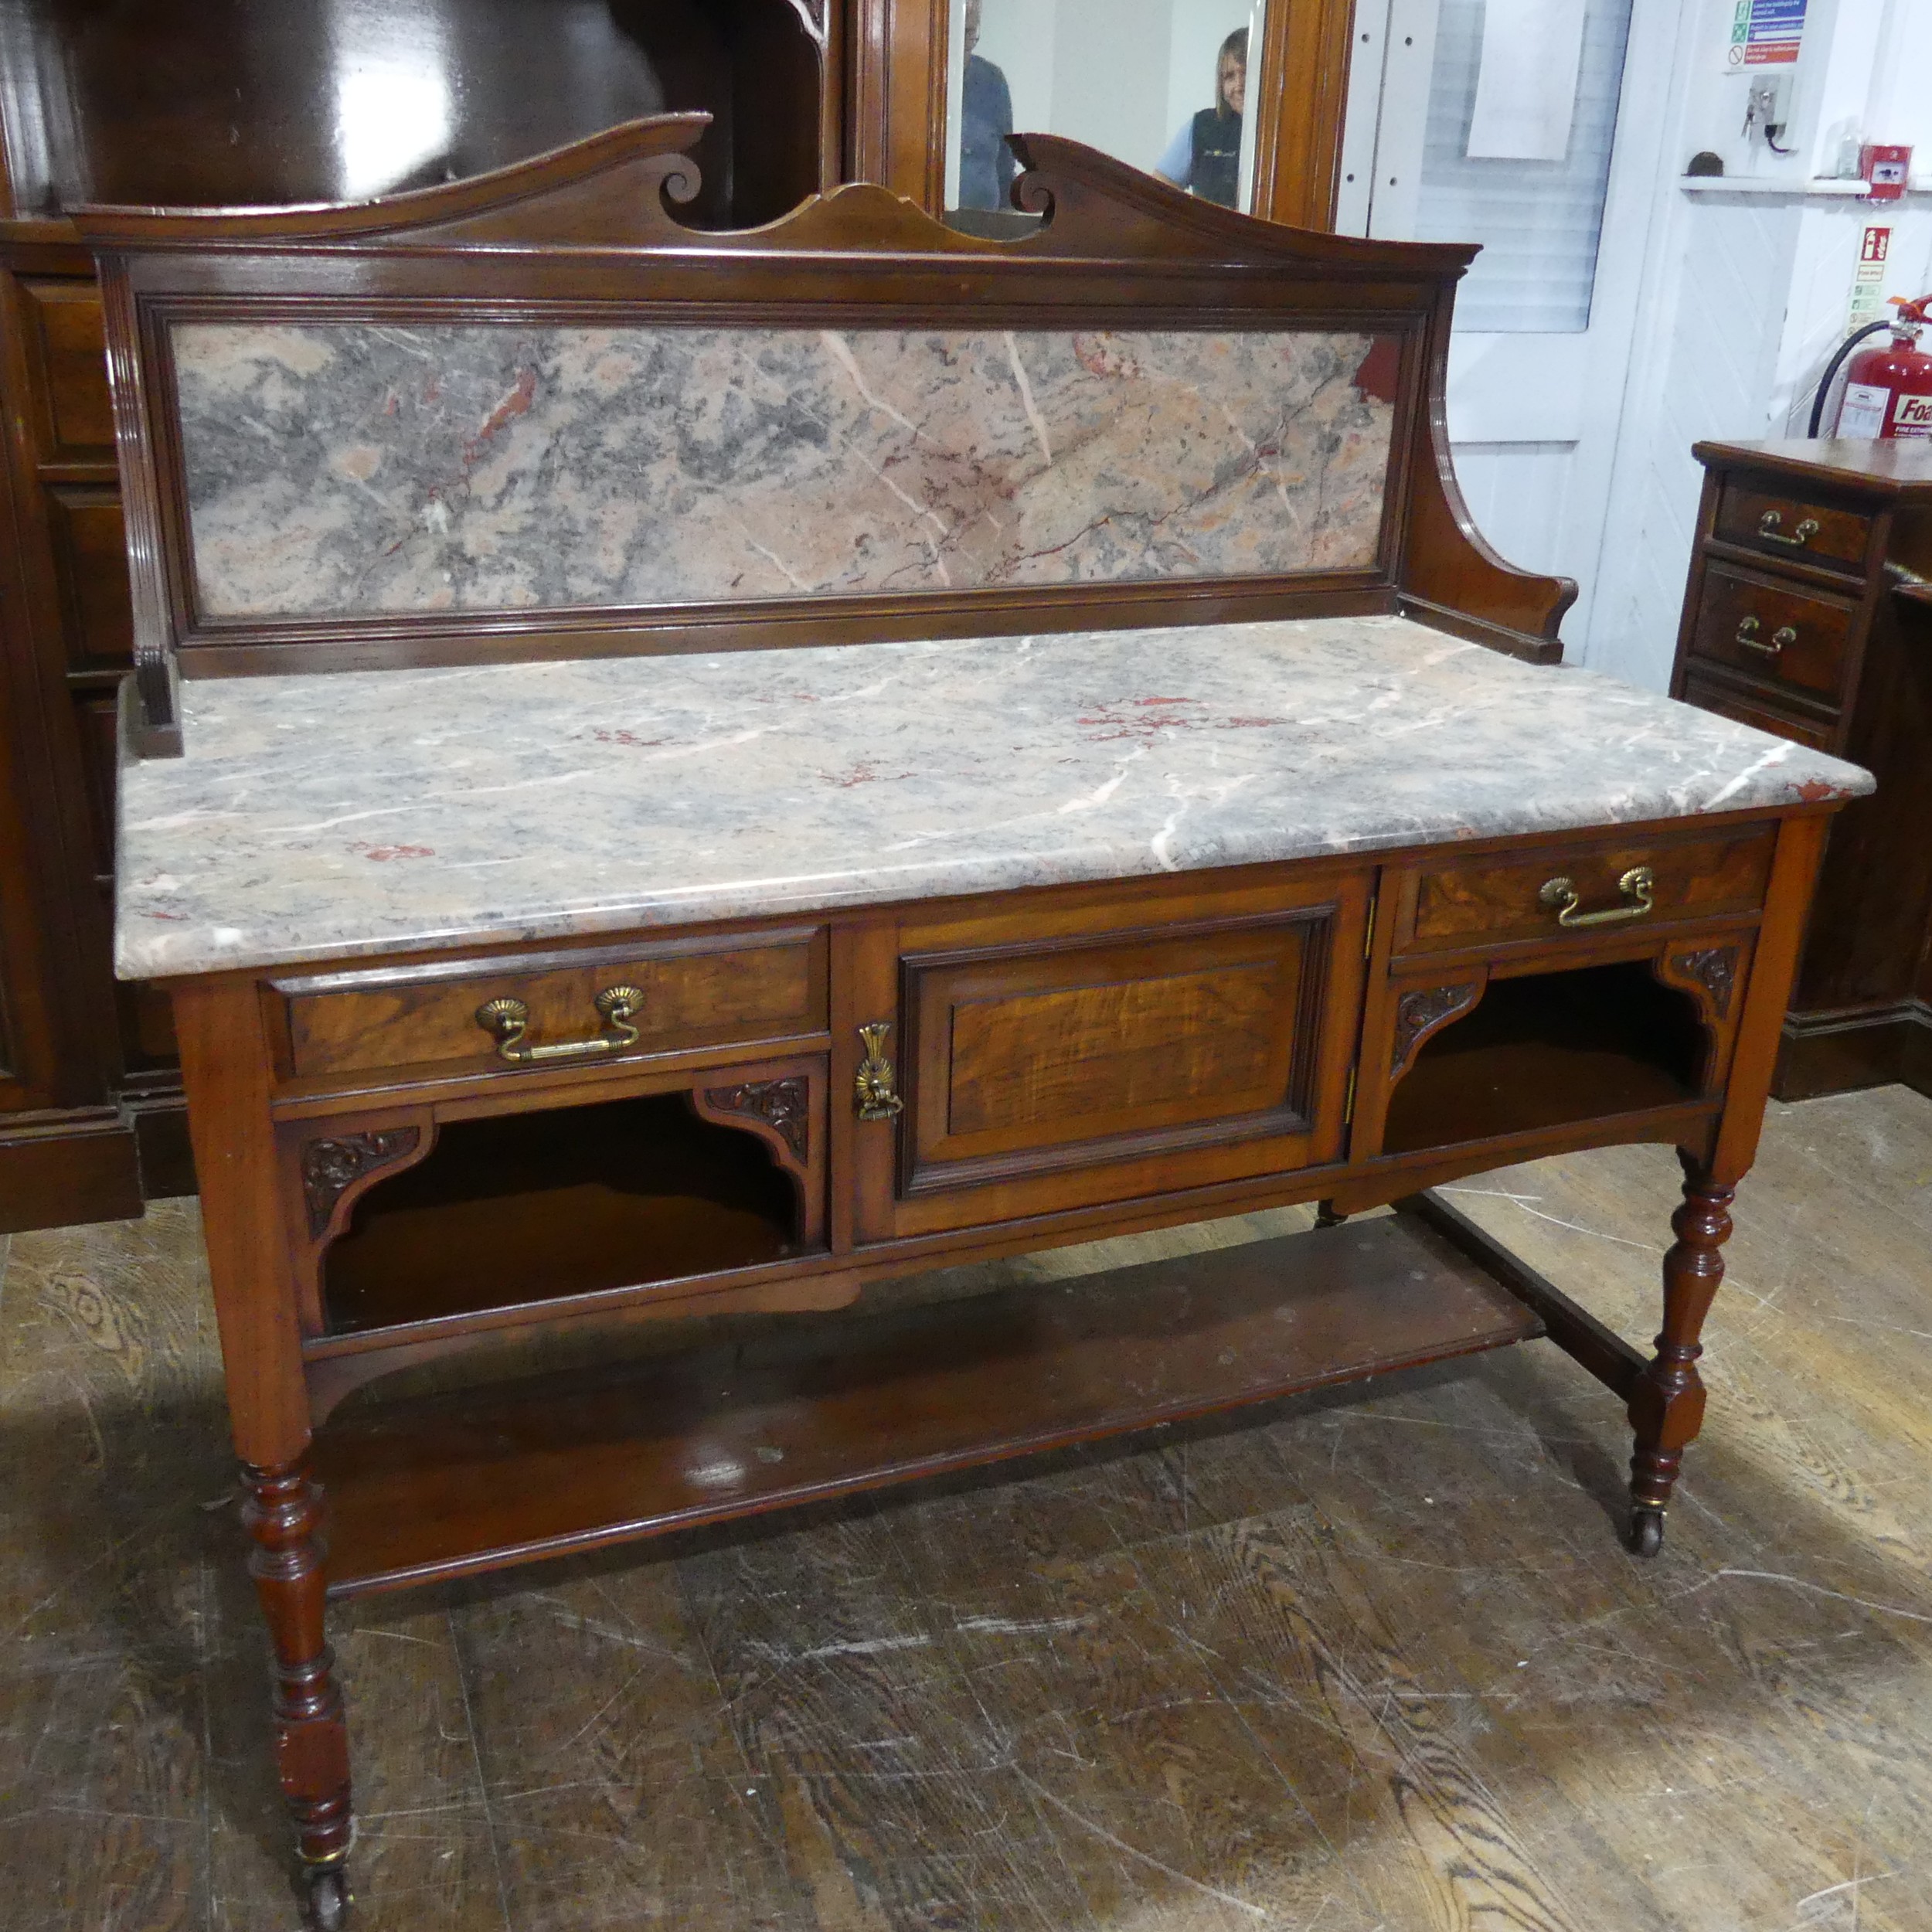
[[[1231,1138],[1310,1159],[1335,908],[904,960],[902,1188]]]

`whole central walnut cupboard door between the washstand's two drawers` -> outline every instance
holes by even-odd
[[[908,949],[895,1231],[1339,1157],[1364,908]]]

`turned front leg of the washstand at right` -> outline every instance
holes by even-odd
[[[1631,1395],[1631,1548],[1654,1557],[1663,1544],[1663,1511],[1685,1449],[1704,1422],[1704,1381],[1696,1358],[1698,1335],[1723,1281],[1723,1242],[1731,1233],[1729,1206],[1735,1188],[1716,1186],[1689,1155],[1685,1200],[1671,1215],[1677,1240],[1663,1256],[1663,1333],[1658,1352]]]

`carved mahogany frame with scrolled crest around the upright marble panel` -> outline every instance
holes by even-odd
[[[1051,135],[1020,135],[1037,234],[956,234],[883,187],[767,228],[697,234],[701,116],[632,122],[446,187],[338,209],[77,216],[100,257],[128,495],[133,744],[178,750],[178,674],[860,643],[1161,622],[1416,611],[1519,655],[1559,653],[1567,580],[1476,533],[1449,456],[1443,371],[1472,249],[1358,242],[1231,214]],[[597,609],[207,618],[174,413],[185,321],[381,319],[705,327],[1341,328],[1399,342],[1379,554],[1364,570]]]

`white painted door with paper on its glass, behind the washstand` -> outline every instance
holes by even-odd
[[[1449,352],[1457,475],[1509,562],[1580,583],[1563,624],[1571,659],[1586,651],[1602,574],[1675,12],[1356,4],[1337,226],[1484,245]],[[1509,35],[1522,39],[1499,43]]]

